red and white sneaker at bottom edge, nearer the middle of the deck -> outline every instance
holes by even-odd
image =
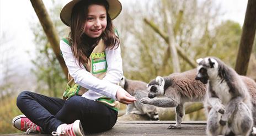
[[[52,135],[58,136],[83,136],[83,128],[79,120],[74,121],[72,124],[61,124],[58,126],[56,132],[52,132]]]

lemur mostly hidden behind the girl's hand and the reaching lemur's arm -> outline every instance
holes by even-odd
[[[137,115],[147,115],[152,121],[158,121],[157,108],[153,105],[146,105],[140,102],[142,97],[146,97],[148,94],[147,84],[143,81],[129,80],[122,77],[120,86],[124,88],[130,95],[134,96],[137,101],[127,105],[126,115],[129,113]]]

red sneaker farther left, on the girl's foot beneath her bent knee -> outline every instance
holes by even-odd
[[[25,115],[19,115],[13,118],[12,124],[15,128],[29,133],[41,133],[41,128],[35,123],[31,122]]]

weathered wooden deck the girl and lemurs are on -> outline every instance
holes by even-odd
[[[186,136],[186,135],[206,135],[206,121],[183,121],[182,128],[180,129],[167,129],[170,123],[175,121],[118,121],[115,126],[103,133],[94,133],[86,135],[109,135],[109,136],[141,136],[141,135],[175,135],[175,136]],[[27,136],[26,134],[3,134],[5,136],[19,135]],[[3,136],[1,135],[1,136]],[[46,136],[46,134],[29,134]]]

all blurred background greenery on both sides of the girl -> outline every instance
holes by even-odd
[[[52,8],[48,13],[54,22],[60,37],[68,35],[68,28],[61,23],[59,12],[63,3],[51,1]],[[146,83],[157,75],[173,73],[170,50],[164,36],[152,29],[152,24],[161,34],[167,36],[167,19],[172,20],[173,38],[181,47],[186,57],[195,60],[199,57],[216,56],[234,68],[241,38],[242,26],[232,20],[220,20],[223,15],[220,5],[214,1],[199,0],[148,0],[147,2],[133,0],[123,4],[121,15],[114,20],[119,32],[124,75],[127,79],[142,80]],[[165,12],[168,10],[168,12]],[[245,14],[245,12],[244,12]],[[151,25],[150,25],[151,24]],[[2,81],[0,83],[0,134],[19,132],[12,127],[12,118],[21,114],[16,106],[16,97],[20,93],[20,80],[23,88],[47,96],[61,97],[66,84],[66,77],[62,72],[50,43],[47,40],[41,24],[31,23],[33,31],[35,54],[31,58],[33,68],[31,75],[18,76],[12,66],[12,58],[1,59]],[[1,35],[1,53],[11,54],[11,48],[3,48],[8,42],[8,35]],[[255,41],[255,40],[254,40]],[[255,45],[255,43],[254,43]],[[250,57],[247,75],[255,78],[255,46]],[[179,57],[181,71],[193,67]],[[26,76],[31,78],[25,78]],[[24,87],[25,86],[25,87]],[[125,109],[122,105],[121,110]],[[204,110],[186,115],[186,120],[205,120]]]

